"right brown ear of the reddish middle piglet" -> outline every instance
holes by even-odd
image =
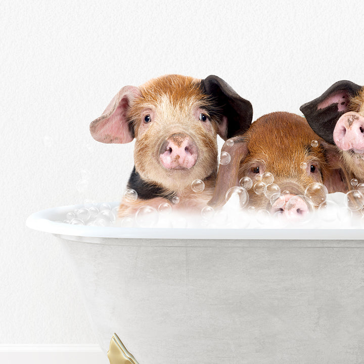
[[[327,168],[323,168],[323,183],[328,192],[348,192],[353,175],[346,169],[341,158],[341,151],[335,145],[325,141],[321,141],[320,144],[326,154]]]

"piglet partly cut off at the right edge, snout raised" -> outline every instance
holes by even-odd
[[[363,182],[364,87],[338,81],[300,110],[311,128],[338,148],[351,177]]]

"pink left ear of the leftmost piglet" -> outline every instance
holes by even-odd
[[[140,90],[125,86],[114,96],[103,114],[90,123],[90,132],[102,143],[129,143],[134,139],[132,125],[128,123],[127,112]]]

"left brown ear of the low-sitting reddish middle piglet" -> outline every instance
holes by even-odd
[[[231,146],[231,143],[234,145]],[[225,195],[228,190],[234,186],[239,186],[239,168],[240,162],[245,159],[248,154],[248,143],[243,136],[235,136],[222,146],[221,153],[230,154],[230,163],[219,165],[216,177],[215,191],[208,202],[209,206],[220,207],[225,204]]]

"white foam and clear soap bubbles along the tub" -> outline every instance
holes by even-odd
[[[232,147],[234,141],[229,139],[225,142],[225,145]],[[319,142],[313,140],[311,146],[317,147]],[[221,152],[220,164],[228,165],[230,162],[231,155],[225,151]],[[300,167],[306,170],[307,163],[302,162]],[[76,188],[78,192],[83,193],[88,186],[90,173],[87,170],[82,170],[80,174],[81,178],[77,182]],[[255,228],[266,227],[269,224],[275,227],[282,227],[282,223],[284,225],[285,223],[292,222],[289,219],[279,219],[279,224],[277,224],[277,219],[275,218],[279,217],[281,212],[277,212],[275,216],[272,216],[269,207],[258,210],[254,206],[249,206],[249,193],[254,193],[258,196],[265,196],[270,206],[274,205],[278,210],[283,207],[289,210],[289,205],[294,206],[297,199],[304,200],[310,213],[304,219],[300,219],[299,223],[304,224],[309,221],[310,227],[315,222],[318,226],[322,226],[322,223],[336,224],[337,221],[350,225],[353,221],[353,215],[362,216],[359,220],[360,225],[364,226],[364,183],[358,183],[357,179],[352,179],[351,186],[353,189],[346,196],[341,194],[345,196],[345,199],[336,201],[335,199],[328,198],[328,190],[323,184],[313,182],[307,186],[303,195],[297,196],[292,194],[293,197],[287,201],[287,195],[291,195],[291,193],[287,190],[281,191],[280,186],[275,183],[274,175],[270,172],[264,172],[257,174],[253,179],[249,176],[242,177],[239,181],[239,186],[234,186],[226,192],[226,203],[222,209],[215,210],[211,206],[205,206],[202,208],[199,218],[196,218],[196,215],[186,216],[178,213],[175,205],[180,203],[180,197],[173,196],[169,201],[162,202],[158,208],[144,205],[136,210],[134,215],[128,215],[120,219],[117,218],[117,206],[111,207],[107,203],[96,204],[86,200],[82,207],[68,212],[65,219],[61,222],[77,225],[142,228],[224,228],[226,226],[234,226],[236,228],[246,228],[249,226],[250,228]],[[192,182],[191,191],[199,194],[204,190],[205,183],[203,180],[195,179]],[[127,189],[123,197],[126,202],[132,203],[138,199],[138,193],[135,190]],[[316,206],[316,209],[314,206]]]

